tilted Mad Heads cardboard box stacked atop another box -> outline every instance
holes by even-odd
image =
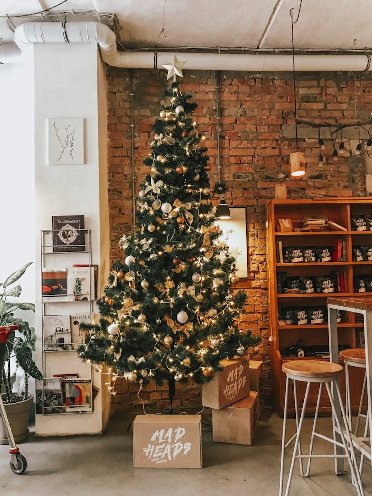
[[[203,384],[203,406],[221,408],[249,396],[249,360],[221,360],[224,370]]]

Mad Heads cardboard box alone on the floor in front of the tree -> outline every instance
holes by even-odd
[[[201,415],[137,415],[134,467],[201,468]]]

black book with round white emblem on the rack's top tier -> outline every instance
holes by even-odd
[[[84,215],[53,215],[53,252],[85,251]]]

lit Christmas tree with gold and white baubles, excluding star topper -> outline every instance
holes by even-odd
[[[123,261],[97,302],[100,324],[78,350],[83,361],[129,381],[168,381],[171,411],[176,381],[209,381],[222,359],[259,342],[238,328],[246,295],[232,289],[235,259],[219,241],[191,100],[178,82],[164,92],[144,160],[150,173],[137,197],[137,231],[120,240]]]

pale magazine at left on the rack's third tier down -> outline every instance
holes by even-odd
[[[44,315],[43,331],[45,351],[72,349],[69,315]]]

